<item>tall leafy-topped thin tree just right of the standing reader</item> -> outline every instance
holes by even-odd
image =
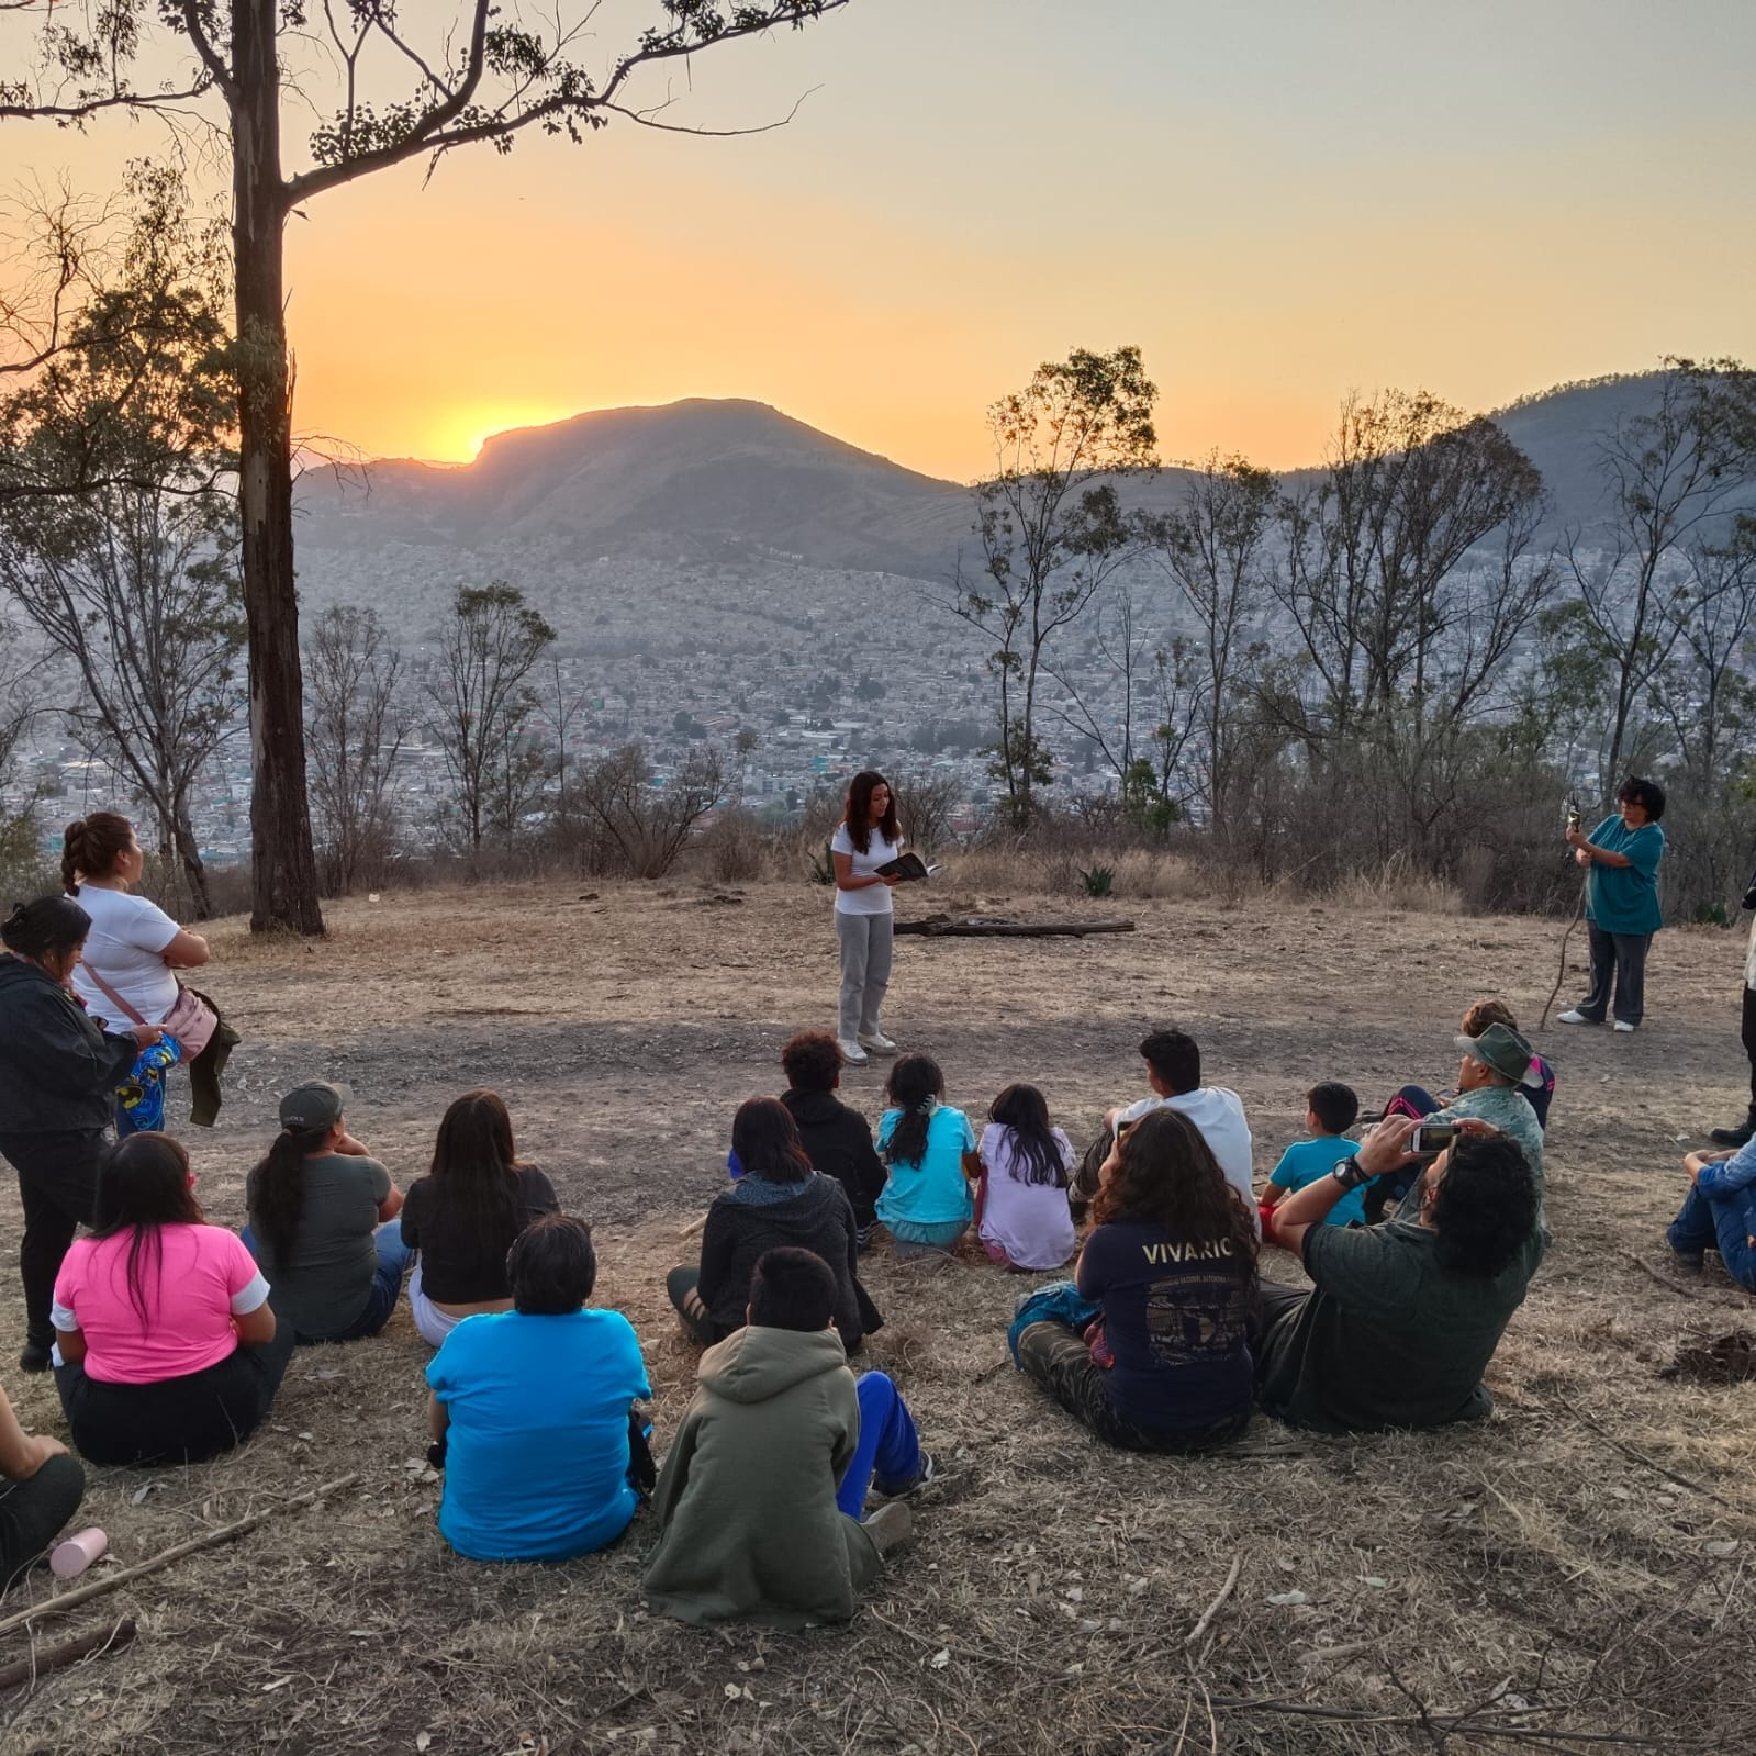
[[[996,469],[975,488],[982,567],[959,572],[950,609],[996,643],[992,771],[1020,829],[1052,773],[1038,681],[1055,637],[1138,546],[1117,486],[1152,464],[1157,395],[1138,348],[1075,348],[989,409]]]

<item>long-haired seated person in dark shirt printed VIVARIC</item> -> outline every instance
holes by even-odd
[[[1073,1270],[1089,1303],[1071,1313],[1064,1282],[1034,1294],[1013,1322],[1018,1370],[1112,1445],[1234,1438],[1256,1382],[1256,1226],[1201,1131],[1175,1110],[1143,1115],[1105,1161],[1092,1210]]]

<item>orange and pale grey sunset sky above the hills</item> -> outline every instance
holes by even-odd
[[[1270,465],[1350,386],[1491,407],[1756,358],[1752,83],[1751,0],[853,0],[678,81],[709,126],[808,93],[778,132],[613,126],[313,202],[297,420],[467,458],[739,395],[968,479],[983,407],[1071,346],[1145,349],[1166,457]],[[0,181],[102,190],[151,146],[5,125]]]

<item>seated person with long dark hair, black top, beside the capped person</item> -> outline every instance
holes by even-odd
[[[506,1252],[543,1213],[558,1213],[555,1185],[513,1150],[513,1119],[497,1092],[464,1092],[444,1113],[434,1164],[409,1185],[402,1241],[416,1252],[409,1310],[423,1342],[439,1347],[479,1312],[509,1312]]]

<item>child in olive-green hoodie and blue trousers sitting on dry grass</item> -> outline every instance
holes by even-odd
[[[932,1479],[932,1459],[882,1371],[855,1385],[834,1303],[827,1263],[769,1250],[746,1326],[701,1356],[701,1389],[653,1496],[660,1533],[643,1584],[662,1616],[845,1623],[883,1552],[908,1536],[908,1507],[860,1521],[866,1491],[876,1480],[904,1494]]]

